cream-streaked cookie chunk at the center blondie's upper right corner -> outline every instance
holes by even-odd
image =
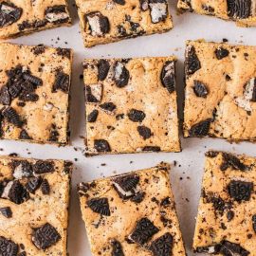
[[[166,62],[161,71],[161,82],[167,88],[169,93],[175,90],[175,64],[174,62]]]

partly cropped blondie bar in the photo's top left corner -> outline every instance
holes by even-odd
[[[0,38],[71,24],[65,0],[0,0]]]

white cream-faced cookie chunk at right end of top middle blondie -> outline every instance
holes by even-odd
[[[149,0],[150,15],[152,23],[164,22],[168,15],[166,0]]]

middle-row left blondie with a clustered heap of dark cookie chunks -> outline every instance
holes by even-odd
[[[72,52],[0,44],[0,138],[65,145]]]

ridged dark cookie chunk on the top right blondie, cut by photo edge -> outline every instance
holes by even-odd
[[[250,16],[251,0],[227,0],[228,15],[234,19],[247,19]]]

